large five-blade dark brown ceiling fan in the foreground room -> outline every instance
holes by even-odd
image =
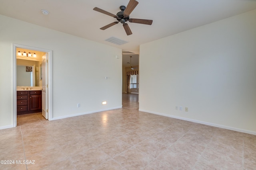
[[[120,6],[120,12],[118,12],[116,15],[111,14],[110,12],[107,12],[105,10],[102,10],[100,8],[93,8],[93,10],[101,12],[103,14],[106,14],[108,16],[112,16],[114,18],[116,18],[115,22],[112,22],[104,27],[101,27],[100,29],[105,30],[113,25],[116,25],[117,23],[121,22],[124,26],[124,30],[126,32],[127,35],[131,35],[132,31],[130,29],[130,27],[128,26],[128,24],[126,23],[126,21],[129,21],[131,23],[141,23],[141,24],[146,24],[146,25],[151,25],[153,20],[144,20],[144,19],[134,19],[134,18],[130,18],[129,15],[131,14],[131,12],[134,10],[134,8],[138,5],[138,1],[136,0],[130,0],[127,7],[125,6]]]

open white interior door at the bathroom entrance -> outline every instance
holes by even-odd
[[[48,119],[48,53],[42,58],[42,115]]]

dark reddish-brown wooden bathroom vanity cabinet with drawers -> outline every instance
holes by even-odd
[[[17,114],[42,111],[42,91],[17,91]]]

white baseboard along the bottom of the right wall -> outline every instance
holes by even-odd
[[[144,109],[139,109],[139,111],[144,111],[144,112],[152,113],[152,114],[156,114],[156,115],[172,117],[172,118],[175,118],[175,119],[181,119],[181,120],[185,120],[185,121],[191,121],[191,122],[194,122],[194,123],[200,123],[200,124],[203,124],[203,125],[209,125],[209,126],[213,126],[213,127],[220,127],[222,129],[228,129],[228,130],[232,130],[232,131],[238,131],[238,132],[242,132],[242,133],[248,133],[248,134],[256,135],[255,131],[248,131],[248,130],[239,129],[239,128],[236,128],[236,127],[218,125],[218,124],[215,124],[215,123],[198,121],[198,120],[195,120],[195,119],[188,119],[188,118],[185,118],[185,117],[178,117],[178,116],[174,116],[174,115],[168,115],[168,114],[158,113],[158,112],[154,112],[154,111],[148,111],[148,110],[144,110]]]

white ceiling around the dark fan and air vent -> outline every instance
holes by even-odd
[[[137,1],[130,18],[149,19],[153,23],[127,22],[133,33],[128,36],[121,23],[101,30],[100,27],[117,20],[93,8],[116,14],[129,0],[0,0],[0,14],[139,54],[140,44],[256,9],[256,0]],[[43,15],[42,9],[49,14]],[[112,36],[128,43],[115,45],[104,41]]]

